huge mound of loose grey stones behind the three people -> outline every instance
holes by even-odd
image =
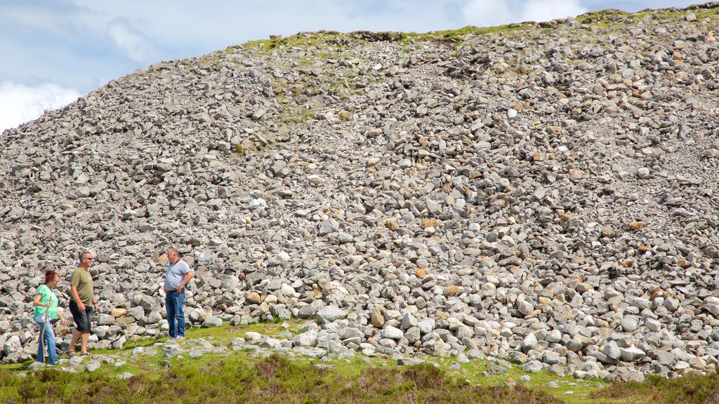
[[[176,246],[193,323],[316,318],[315,356],[715,371],[718,6],[249,42],[8,130],[2,360],[83,249],[93,346],[157,336]]]

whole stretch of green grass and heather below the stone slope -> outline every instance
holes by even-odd
[[[91,403],[719,403],[715,374],[607,385],[550,372],[528,374],[518,364],[486,375],[492,364],[488,360],[458,364],[454,358],[425,357],[418,366],[398,367],[395,359],[383,355],[328,361],[266,357],[248,349],[189,356],[202,341],[226,347],[249,331],[288,339],[298,334],[301,324],[293,320],[193,328],[182,344],[186,352],[170,358],[162,356],[165,338],[141,339],[123,349],[93,351],[110,362],[93,373],[63,372],[67,364],[37,372],[29,371],[32,362],[0,365],[0,403],[70,403],[78,398]],[[138,346],[145,354],[133,354]],[[115,367],[120,361],[124,364]],[[116,377],[124,372],[134,376]],[[524,375],[529,380],[521,381]]]

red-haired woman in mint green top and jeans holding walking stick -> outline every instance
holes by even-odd
[[[45,346],[47,346],[47,363],[58,363],[58,354],[55,350],[55,331],[52,329],[52,320],[58,317],[65,325],[65,318],[58,312],[58,296],[52,290],[58,286],[60,275],[55,271],[45,272],[45,285],[37,287],[37,294],[32,303],[35,304],[35,313],[32,317],[40,326],[40,341],[37,344],[37,362],[45,362]]]

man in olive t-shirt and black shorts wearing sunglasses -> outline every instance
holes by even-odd
[[[88,338],[92,330],[93,307],[99,308],[95,299],[92,276],[88,271],[93,262],[90,252],[83,251],[80,254],[80,267],[70,277],[70,313],[73,313],[77,329],[73,332],[73,339],[70,340],[70,354],[75,353],[75,345],[78,339],[81,341],[80,354],[88,354]]]

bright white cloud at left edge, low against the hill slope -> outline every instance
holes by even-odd
[[[42,116],[46,109],[70,104],[81,94],[74,88],[45,83],[29,87],[4,81],[0,83],[0,133]]]

